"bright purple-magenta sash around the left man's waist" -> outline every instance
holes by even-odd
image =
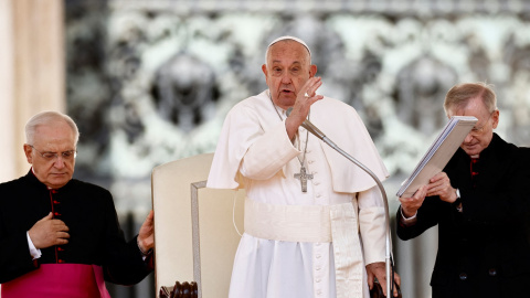
[[[43,264],[2,284],[2,298],[110,298],[103,268],[82,264]]]

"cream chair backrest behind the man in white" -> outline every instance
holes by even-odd
[[[233,214],[243,233],[245,193],[205,188],[212,159],[213,153],[205,153],[152,170],[157,297],[161,286],[173,286],[177,280],[198,283],[199,298],[229,295],[241,238]]]

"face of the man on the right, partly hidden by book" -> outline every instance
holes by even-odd
[[[460,145],[468,156],[477,156],[489,146],[499,124],[499,110],[489,111],[479,97],[469,99],[463,109],[449,109],[448,116],[475,116],[478,119]]]

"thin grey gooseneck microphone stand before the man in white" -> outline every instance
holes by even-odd
[[[391,252],[390,252],[390,215],[389,215],[389,201],[386,199],[386,192],[384,191],[383,184],[381,183],[381,180],[370,170],[368,169],[364,164],[359,162],[357,159],[344,152],[342,149],[340,149],[335,142],[332,142],[326,135],[322,134],[316,126],[314,126],[310,121],[305,120],[301,126],[306,128],[309,132],[315,135],[317,138],[321,139],[324,142],[326,142],[329,147],[333,148],[337,150],[339,153],[341,153],[343,157],[346,157],[348,160],[351,162],[356,163],[359,168],[361,168],[364,172],[367,172],[370,177],[372,177],[373,180],[375,180],[375,183],[378,183],[379,190],[381,191],[381,194],[383,196],[383,205],[384,205],[384,220],[385,220],[385,244],[386,244],[386,251],[385,251],[385,269],[386,269],[386,297],[390,298],[392,297],[392,292],[390,291],[391,289],[391,283],[392,276],[391,276]]]

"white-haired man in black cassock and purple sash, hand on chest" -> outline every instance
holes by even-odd
[[[153,213],[126,242],[112,194],[72,179],[78,130],[43,111],[25,126],[28,174],[0,184],[2,298],[109,297],[152,272]]]

